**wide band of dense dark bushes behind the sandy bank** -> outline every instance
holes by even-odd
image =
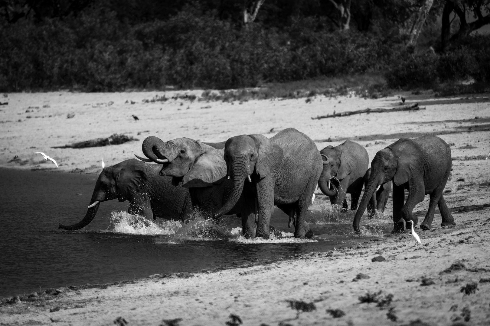
[[[64,20],[19,20],[0,26],[0,90],[224,89],[385,71],[391,87],[490,80],[488,38],[442,56],[413,55],[397,36],[330,33],[319,28],[322,19],[293,19],[281,30],[237,28],[184,10],[133,26],[96,8]]]

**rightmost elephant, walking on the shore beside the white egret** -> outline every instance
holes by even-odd
[[[354,231],[360,233],[359,222],[373,193],[390,181],[393,182],[393,233],[404,230],[403,220],[407,229],[411,228],[410,220],[414,225],[417,224],[418,218],[412,216],[412,210],[424,200],[425,195],[430,195],[429,209],[420,227],[423,230],[432,228],[436,204],[441,212],[441,225],[455,225],[442,196],[451,166],[451,149],[432,133],[418,138],[400,138],[377,152],[371,162],[368,185],[354,218]],[[406,202],[404,189],[408,190]]]

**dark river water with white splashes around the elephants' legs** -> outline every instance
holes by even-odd
[[[199,272],[218,266],[331,250],[391,231],[387,220],[363,236],[352,230],[350,216],[309,212],[316,234],[251,240],[237,234],[240,219],[225,217],[220,228],[229,237],[213,238],[210,222],[148,223],[123,213],[127,202],[100,204],[97,216],[75,232],[58,229],[84,217],[97,175],[0,169],[0,298],[49,287],[112,283],[155,273]],[[325,201],[325,207],[330,203]],[[328,206],[329,207],[329,206]],[[271,225],[288,229],[288,217],[276,209]],[[291,234],[289,235],[291,236]]]

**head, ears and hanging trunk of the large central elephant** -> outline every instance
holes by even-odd
[[[235,206],[242,195],[245,179],[251,182],[251,174],[256,174],[260,179],[271,175],[282,157],[282,149],[261,134],[229,138],[225,143],[224,160],[228,176],[233,179],[232,190],[215,217],[220,217]]]

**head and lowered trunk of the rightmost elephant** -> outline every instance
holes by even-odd
[[[422,157],[410,139],[402,138],[377,152],[371,162],[371,175],[364,189],[364,195],[354,217],[354,231],[360,233],[359,222],[368,206],[369,199],[386,182],[393,181],[401,186],[420,169]],[[414,223],[417,224],[417,217]]]

